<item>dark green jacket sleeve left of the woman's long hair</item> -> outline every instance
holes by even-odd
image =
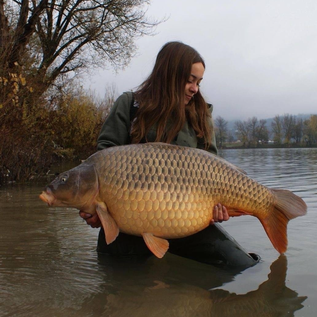
[[[132,93],[123,93],[114,103],[99,136],[97,149],[130,143]]]

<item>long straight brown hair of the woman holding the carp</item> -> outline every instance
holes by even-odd
[[[146,138],[153,126],[156,126],[155,141],[171,143],[188,120],[197,138],[204,137],[205,148],[208,147],[212,133],[208,120],[211,118],[199,89],[187,106],[184,103],[191,67],[197,62],[205,68],[200,54],[182,42],[168,42],[161,48],[152,72],[135,92],[140,106],[131,131],[133,143]]]

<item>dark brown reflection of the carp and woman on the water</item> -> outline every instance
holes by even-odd
[[[195,280],[184,280],[182,283],[175,283],[175,279],[180,274],[186,273],[189,267],[183,268],[181,272],[174,265],[167,266],[166,262],[161,264],[157,262],[145,264],[145,268],[150,267],[150,277],[143,280],[142,283],[133,283],[129,278],[130,274],[134,274],[136,268],[132,267],[128,270],[119,270],[117,273],[125,272],[124,276],[130,285],[124,283],[120,290],[107,296],[107,311],[112,316],[129,315],[133,309],[134,316],[159,316],[159,315],[175,315],[175,316],[193,316],[199,311],[200,316],[284,316],[293,315],[293,312],[303,307],[301,304],[306,297],[298,296],[298,294],[285,286],[287,260],[285,256],[280,256],[272,265],[268,280],[263,282],[255,291],[248,292],[244,295],[230,293],[222,289],[208,290],[200,285],[202,274],[207,273],[209,283],[215,286],[218,283],[219,272],[217,270],[209,270],[194,274]],[[105,267],[108,263],[105,260]],[[123,267],[120,266],[122,269]],[[124,265],[126,269],[127,266]],[[144,277],[141,270],[136,277]],[[193,268],[198,269],[198,268]],[[188,276],[188,275],[187,275]],[[222,282],[226,276],[220,273]],[[120,276],[121,277],[121,276]],[[152,280],[156,279],[156,280]],[[96,298],[89,298],[88,302],[92,303]],[[100,298],[96,300],[100,302]],[[116,307],[120,307],[116,311]],[[88,312],[88,311],[87,311]],[[198,315],[197,314],[197,315]]]

